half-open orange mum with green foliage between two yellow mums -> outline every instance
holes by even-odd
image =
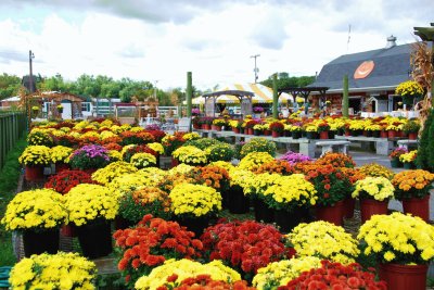
[[[127,191],[120,197],[118,215],[127,226],[137,225],[146,214],[170,219],[170,199],[167,192],[146,186]]]

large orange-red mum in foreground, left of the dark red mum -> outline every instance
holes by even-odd
[[[203,244],[193,239],[176,222],[153,218],[148,214],[136,228],[119,229],[113,235],[118,255],[117,267],[125,277],[127,288],[132,289],[136,280],[169,259],[201,257]]]

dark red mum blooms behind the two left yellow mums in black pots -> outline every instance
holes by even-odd
[[[88,173],[85,173],[82,171],[63,171],[61,173],[50,176],[44,185],[44,188],[52,188],[59,193],[65,194],[69,192],[73,187],[80,184],[98,185],[97,181],[92,180]]]

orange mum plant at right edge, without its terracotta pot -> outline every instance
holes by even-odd
[[[397,199],[423,198],[430,193],[434,174],[422,171],[400,172],[392,179]]]

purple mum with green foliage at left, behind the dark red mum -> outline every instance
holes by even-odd
[[[73,169],[95,172],[105,167],[110,162],[108,150],[98,144],[84,146],[73,152],[69,165]]]

